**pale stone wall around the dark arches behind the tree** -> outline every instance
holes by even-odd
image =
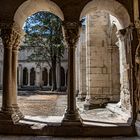
[[[20,51],[19,53],[19,64],[18,64],[18,67],[19,67],[19,71],[18,71],[18,83],[19,83],[19,86],[20,87],[25,87],[25,85],[23,84],[23,69],[24,68],[27,68],[28,70],[28,85],[27,86],[30,86],[30,72],[31,72],[31,69],[34,68],[35,70],[35,85],[36,87],[40,87],[40,86],[43,86],[43,77],[42,77],[42,73],[43,73],[43,70],[44,68],[47,70],[47,77],[48,77],[48,84],[47,84],[47,87],[48,88],[51,88],[51,85],[49,84],[49,73],[51,71],[51,68],[49,66],[49,64],[47,62],[40,62],[39,66],[38,64],[35,62],[35,61],[28,61],[28,56],[31,55],[33,49],[25,49],[25,50],[22,50]],[[67,50],[65,50],[65,53],[64,53],[64,57],[62,58],[61,60],[61,65],[58,65],[57,64],[57,68],[56,68],[56,80],[57,80],[57,87],[59,85],[61,85],[61,78],[60,78],[60,68],[59,67],[62,67],[64,69],[64,78],[65,79],[62,79],[65,81],[65,88],[66,88],[66,80],[67,80],[67,70],[68,70],[68,62],[67,62]]]

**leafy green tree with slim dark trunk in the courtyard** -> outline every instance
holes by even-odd
[[[56,64],[64,54],[62,21],[49,12],[38,12],[29,17],[24,26],[25,39],[21,49],[32,48],[29,60],[47,62],[52,68],[52,90],[56,90]]]

